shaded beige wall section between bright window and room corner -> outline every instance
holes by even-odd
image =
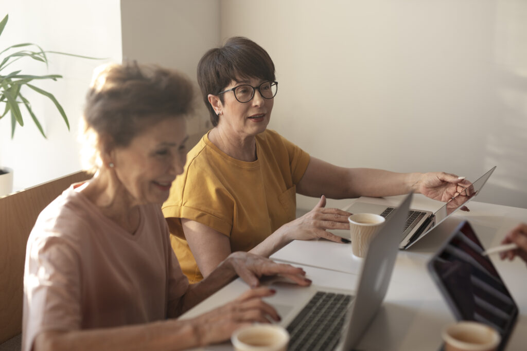
[[[220,42],[220,2],[125,0],[121,9],[123,59],[177,69],[194,83],[197,111],[188,119],[187,133],[189,144],[197,142],[211,125],[196,69],[201,56]]]

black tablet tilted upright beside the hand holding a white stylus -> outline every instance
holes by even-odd
[[[493,326],[501,334],[498,349],[503,350],[516,323],[518,306],[492,261],[481,255],[484,250],[465,220],[428,262],[428,270],[456,319]]]

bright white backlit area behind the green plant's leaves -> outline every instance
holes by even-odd
[[[0,165],[14,168],[15,190],[81,169],[80,148],[76,142],[78,120],[93,68],[108,61],[121,62],[119,5],[119,0],[2,0],[0,16],[3,18],[8,13],[9,21],[1,37],[1,49],[30,42],[48,51],[108,58],[92,61],[49,54],[47,69],[44,64],[22,60],[10,66],[13,70],[23,69],[26,74],[63,75],[57,82],[35,82],[34,85],[55,95],[71,125],[68,132],[53,103],[31,91],[25,95],[32,102],[47,140],[27,113],[26,124],[16,129],[14,139],[11,139],[11,116],[0,120]]]

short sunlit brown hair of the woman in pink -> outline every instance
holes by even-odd
[[[191,113],[189,79],[171,69],[136,62],[110,64],[94,73],[84,107],[84,161],[99,168],[101,138],[126,147],[145,127]],[[90,142],[88,142],[90,141]],[[95,170],[93,169],[93,170]]]

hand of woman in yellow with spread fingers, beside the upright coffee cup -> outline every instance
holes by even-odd
[[[324,238],[337,243],[349,243],[326,229],[348,229],[348,217],[351,213],[338,208],[325,208],[326,197],[322,195],[318,204],[295,220],[280,227],[287,240],[310,240]]]

